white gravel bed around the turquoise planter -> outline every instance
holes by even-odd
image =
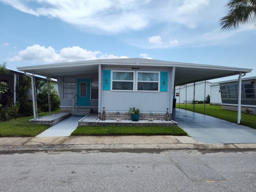
[[[86,122],[96,122],[98,119],[98,114],[91,114],[89,116],[87,116],[86,118],[84,118],[82,121],[86,121]],[[105,121],[101,121],[99,120],[99,122],[105,122],[105,123],[113,123],[113,122],[117,122],[118,121],[116,119],[106,119]],[[132,121],[129,119],[121,119],[121,121],[119,121],[120,123],[167,123],[168,121],[164,121],[164,120],[153,120],[153,121],[148,121],[148,120],[138,120],[136,121]]]

